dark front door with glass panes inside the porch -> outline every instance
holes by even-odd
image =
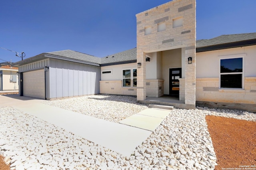
[[[180,81],[181,78],[181,68],[170,69],[169,71],[169,94],[179,95],[180,92]]]

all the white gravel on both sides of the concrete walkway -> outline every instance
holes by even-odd
[[[134,97],[111,95],[45,103],[113,122],[147,108],[136,103]],[[213,170],[216,155],[205,116],[256,121],[256,114],[249,112],[205,107],[174,109],[131,156],[122,156],[12,107],[0,107],[0,113],[0,154],[11,164],[11,169],[16,170]]]

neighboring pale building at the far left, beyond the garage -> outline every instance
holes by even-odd
[[[18,90],[18,67],[0,64],[0,91]]]

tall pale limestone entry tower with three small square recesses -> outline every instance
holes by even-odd
[[[173,0],[136,14],[137,100],[146,99],[146,53],[180,48],[180,100],[196,104],[196,0]],[[188,57],[192,63],[188,64]],[[164,62],[164,61],[162,61]]]

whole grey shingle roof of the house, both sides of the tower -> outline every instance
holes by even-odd
[[[215,49],[232,48],[232,47],[236,47],[237,44],[234,45],[234,43],[236,43],[236,42],[239,42],[238,45],[240,45],[240,46],[255,45],[256,44],[256,33],[222,35],[222,36],[218,36],[216,38],[212,38],[209,40],[197,40],[196,41],[196,52],[211,51],[211,50],[215,50]],[[248,43],[248,42],[250,42],[250,43]],[[219,47],[216,47],[216,46],[219,46]],[[206,50],[204,48],[208,48],[208,49]],[[200,51],[200,49],[201,49],[201,51]],[[23,61],[18,61],[13,65],[20,66],[22,64],[37,61],[44,57],[51,57],[49,55],[53,55],[53,57],[57,56],[59,59],[74,59],[75,62],[76,61],[77,62],[84,61],[84,62],[88,62],[88,64],[92,64],[92,65],[94,65],[94,63],[95,63],[95,64],[98,64],[101,66],[106,66],[106,65],[116,65],[116,64],[122,64],[122,63],[136,62],[137,48],[135,47],[135,48],[128,49],[126,51],[122,51],[122,52],[115,53],[112,55],[108,55],[108,56],[102,57],[102,58],[67,49],[67,50],[63,50],[63,51],[53,51],[53,52],[48,52],[48,53],[42,53],[40,55],[30,57]]]

